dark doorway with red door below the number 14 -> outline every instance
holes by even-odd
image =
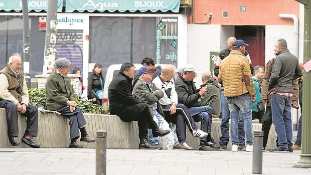
[[[265,26],[235,26],[235,37],[249,44],[246,47],[253,67],[265,65]]]

